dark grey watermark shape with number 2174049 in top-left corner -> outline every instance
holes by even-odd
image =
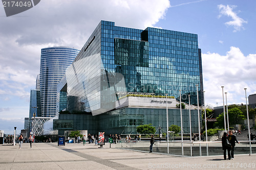
[[[6,16],[16,15],[36,6],[40,0],[2,0]]]

